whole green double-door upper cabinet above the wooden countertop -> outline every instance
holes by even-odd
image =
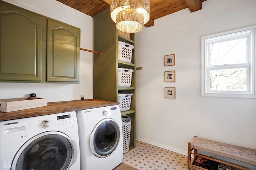
[[[0,82],[79,83],[80,28],[0,0]]]

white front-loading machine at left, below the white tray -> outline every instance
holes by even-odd
[[[0,121],[0,150],[0,169],[80,170],[76,112]]]

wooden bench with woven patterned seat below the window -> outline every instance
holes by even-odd
[[[227,162],[223,162],[221,160],[217,160],[217,159],[214,159],[214,158],[211,158],[208,156],[197,154],[197,152],[196,152],[197,149],[256,166],[256,150],[255,149],[238,147],[236,145],[230,145],[230,144],[226,144],[226,143],[211,141],[208,139],[202,139],[202,138],[195,136],[188,143],[188,169],[189,170],[191,168],[190,167],[191,166],[191,154],[194,154],[194,157],[201,156],[202,158],[213,160],[213,161],[221,163],[221,164],[227,164]],[[193,150],[194,150],[194,152],[192,152]],[[232,164],[230,164],[230,165],[232,165]],[[241,168],[236,165],[232,165],[232,166],[235,168],[239,168],[241,170],[246,170],[246,168]]]

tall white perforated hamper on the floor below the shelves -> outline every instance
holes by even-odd
[[[127,116],[122,116],[122,129],[123,129],[123,153],[129,151],[130,147],[130,135],[131,135],[132,119]]]

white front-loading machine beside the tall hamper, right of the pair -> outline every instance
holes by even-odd
[[[118,105],[77,111],[81,170],[112,170],[123,160]]]

